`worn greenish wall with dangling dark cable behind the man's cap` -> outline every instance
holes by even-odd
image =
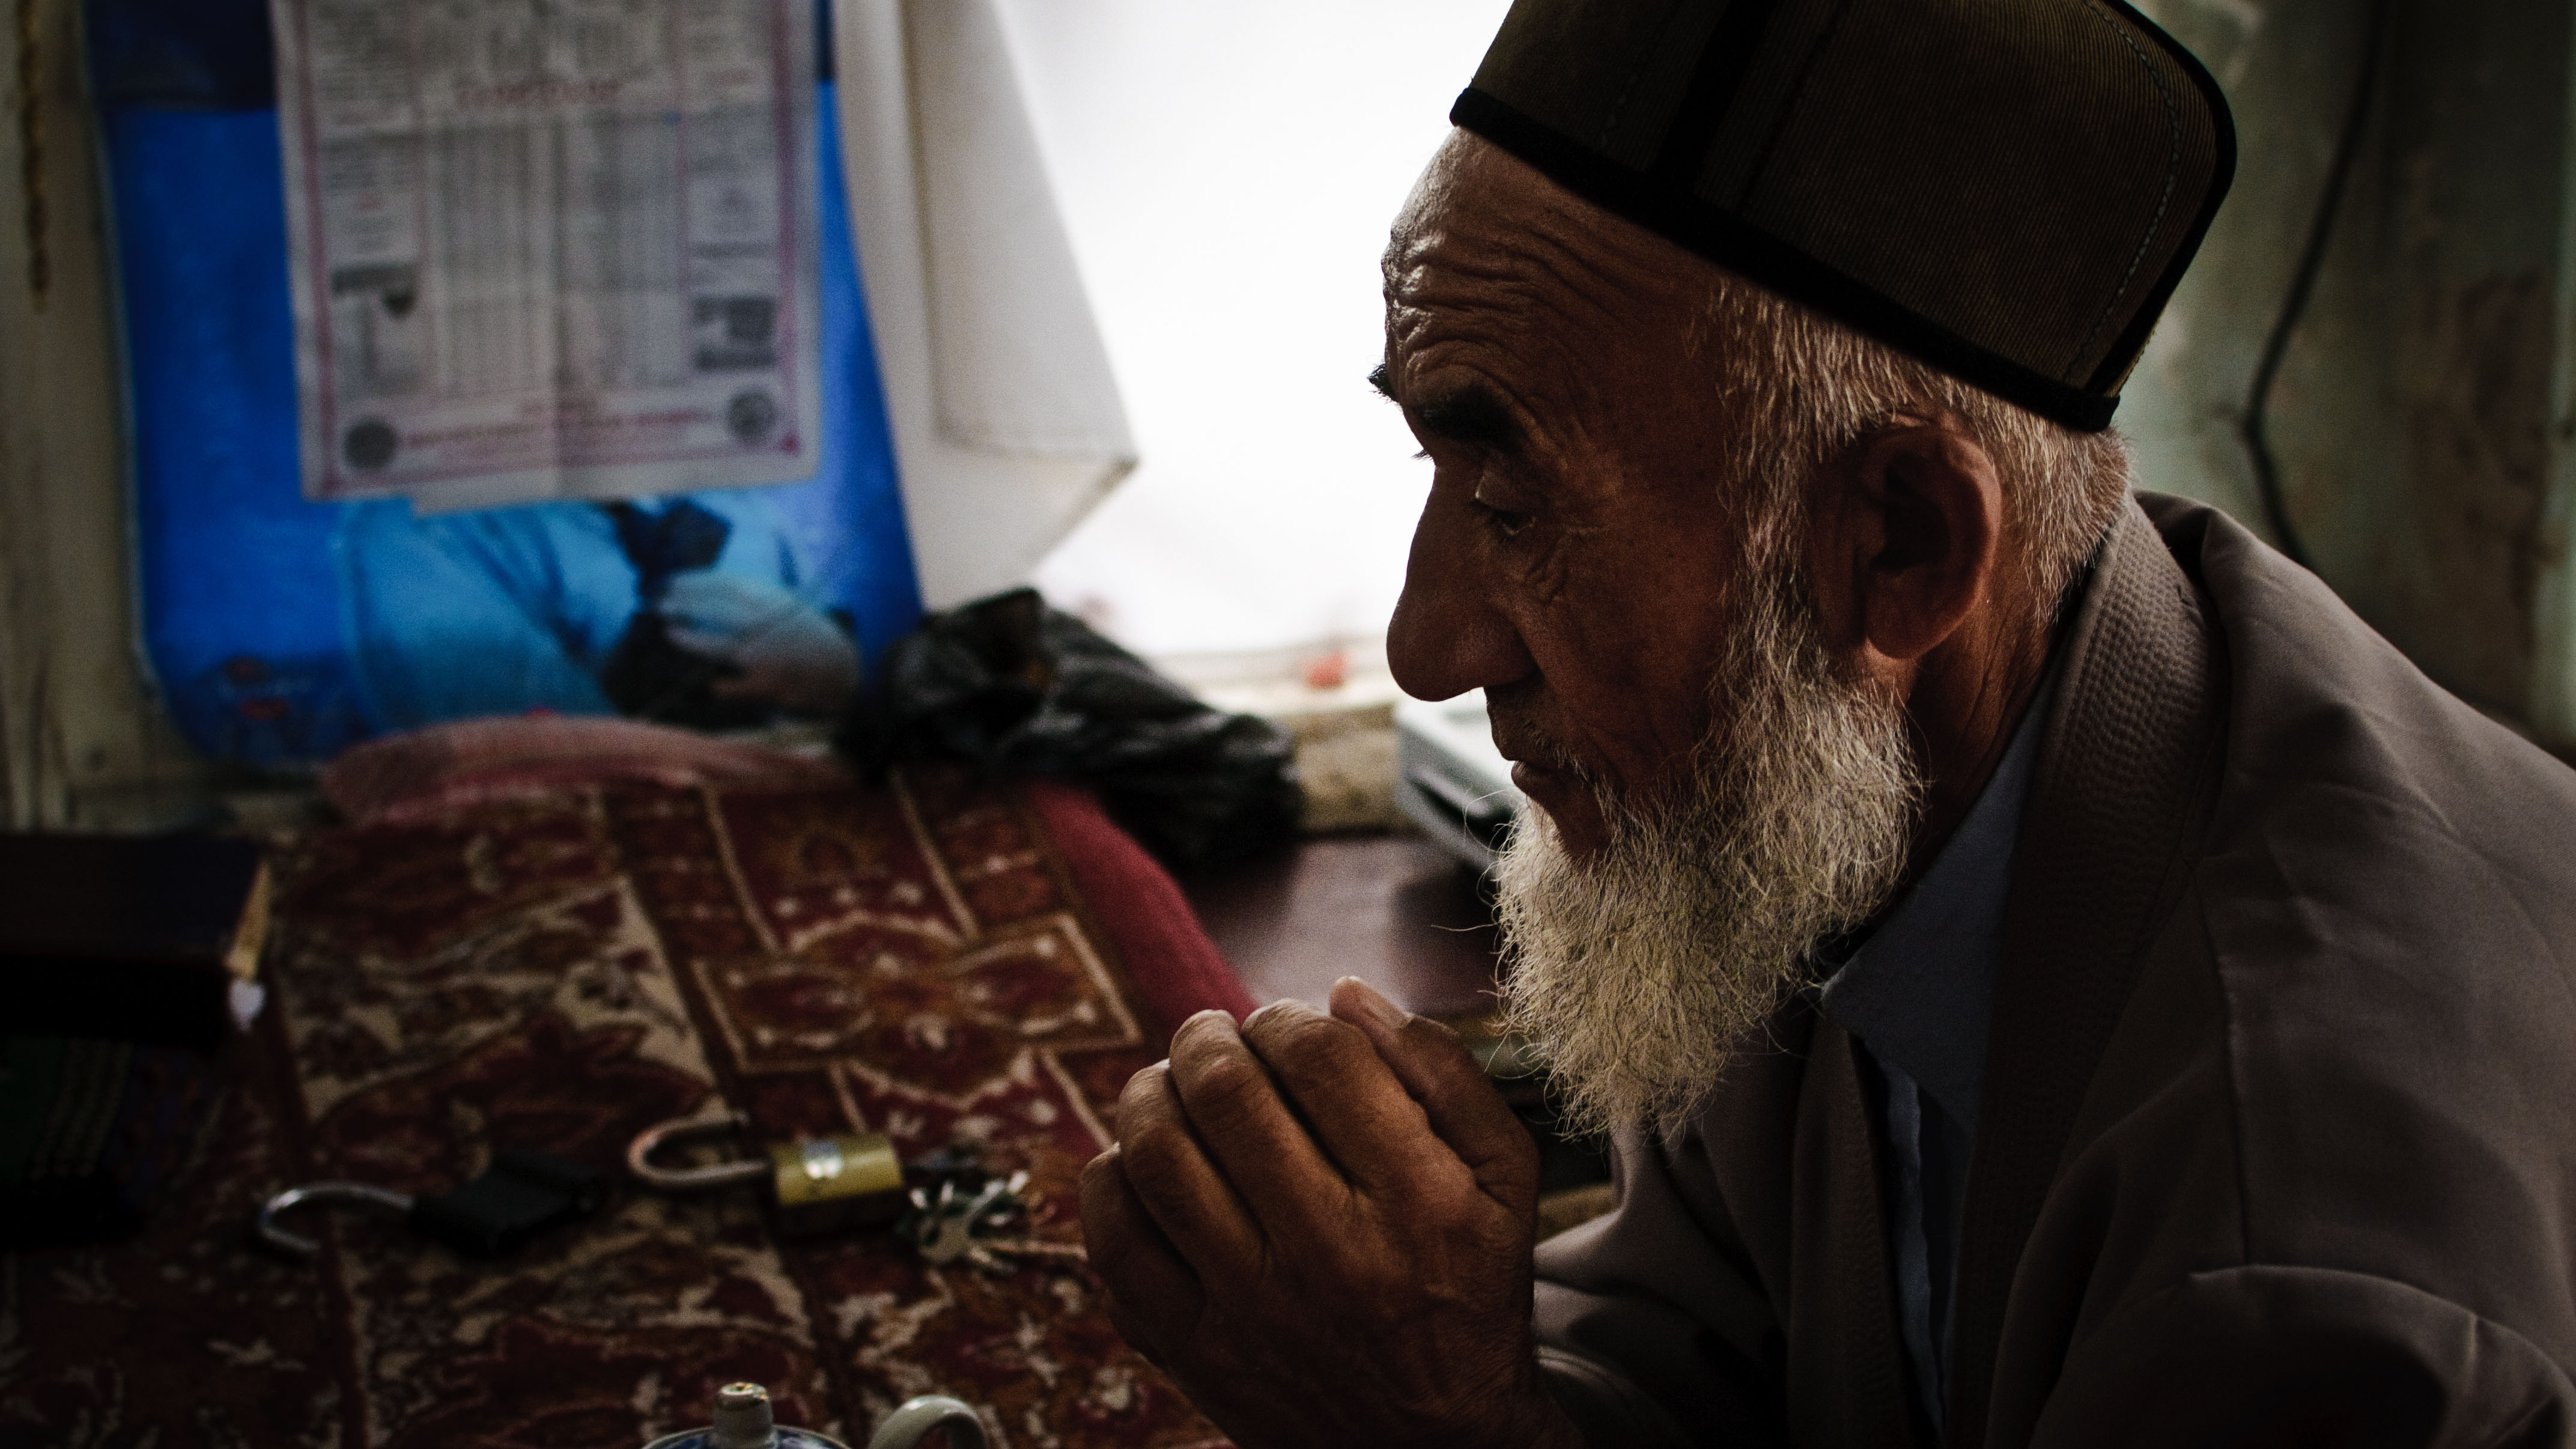
[[[2120,425],[2143,487],[2262,529],[2239,425],[2352,95],[2370,5],[2151,0],[2218,75],[2241,168]],[[2427,673],[2550,743],[2566,614],[2543,518],[2566,245],[2566,0],[2398,0],[2365,150],[2272,400],[2316,570]],[[2267,531],[2267,529],[2264,529]],[[2563,552],[2563,549],[2555,549]]]

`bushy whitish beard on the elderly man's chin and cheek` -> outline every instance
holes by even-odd
[[[1837,681],[1790,570],[1762,570],[1713,681],[1690,789],[1600,797],[1607,843],[1566,853],[1530,810],[1502,853],[1502,1006],[1574,1132],[1674,1132],[1808,951],[1904,874],[1922,773],[1893,699]]]

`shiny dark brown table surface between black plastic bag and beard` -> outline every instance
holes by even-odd
[[[1316,1006],[1363,977],[1445,1021],[1494,1003],[1494,913],[1476,877],[1422,835],[1327,835],[1180,877],[1255,1000]]]

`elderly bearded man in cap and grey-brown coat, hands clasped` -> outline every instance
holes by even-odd
[[[1507,1008],[1190,1021],[1084,1230],[1236,1441],[2568,1444],[2576,776],[2102,431],[2231,168],[2102,0],[1520,0],[1386,253]]]

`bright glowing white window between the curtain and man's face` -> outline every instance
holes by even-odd
[[[1507,0],[1002,0],[1144,456],[1038,585],[1149,655],[1376,639],[1430,464],[1378,250]]]

